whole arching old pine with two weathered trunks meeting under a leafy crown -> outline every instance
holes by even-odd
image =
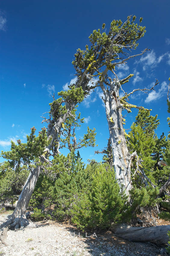
[[[146,48],[136,55],[129,54],[136,49],[138,40],[146,32],[145,27],[141,26],[142,18],[140,18],[139,24],[135,24],[135,19],[135,16],[128,16],[124,23],[121,20],[113,20],[108,34],[103,32],[105,28],[105,24],[103,24],[101,32],[100,29],[94,30],[89,36],[91,45],[86,45],[85,50],[77,50],[72,62],[76,70],[76,83],[71,84],[67,91],[59,92],[60,98],[53,98],[53,101],[49,104],[49,117],[44,117],[43,120],[48,124],[47,145],[43,152],[39,151],[39,156],[35,159],[36,166],[29,173],[14,213],[2,227],[19,228],[28,225],[25,212],[39,173],[45,168],[44,165],[51,164],[49,160],[51,149],[53,149],[53,155],[59,152],[60,131],[63,129],[66,119],[69,116],[74,117],[73,110],[77,103],[82,102],[90,91],[96,87],[100,87],[104,93],[103,100],[109,126],[113,167],[119,186],[129,196],[129,190],[131,189],[130,167],[134,157],[138,160],[137,167],[143,182],[146,186],[151,183],[144,170],[139,167],[141,165],[137,153],[134,152],[129,156],[123,128],[124,120],[121,113],[122,109],[128,112],[131,112],[131,108],[144,109],[144,107],[131,105],[128,102],[128,97],[138,90],[142,92],[152,90],[154,86],[151,89],[134,89],[127,93],[122,87],[133,75],[130,74],[124,79],[119,79],[116,74],[117,66],[125,65],[129,59],[141,56],[148,50]],[[112,79],[111,76],[113,75],[114,78]],[[156,81],[155,85],[157,83]],[[124,92],[123,97],[119,96],[119,90]],[[152,183],[151,185],[154,186]]]

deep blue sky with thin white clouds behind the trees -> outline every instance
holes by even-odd
[[[120,5],[121,3],[121,5]],[[152,108],[158,114],[157,135],[167,135],[169,127],[166,96],[170,76],[170,1],[1,1],[0,5],[0,150],[10,150],[10,140],[26,142],[26,134],[35,126],[37,133],[42,113],[48,111],[51,93],[66,89],[74,81],[71,62],[77,48],[85,49],[88,36],[106,23],[106,33],[113,19],[125,21],[128,15],[143,17],[147,32],[135,53],[151,50],[117,69],[120,78],[134,73],[124,85],[127,92],[150,87],[157,78],[156,92],[149,96],[136,93],[131,103]],[[80,149],[87,159],[100,161],[94,150],[107,146],[109,137],[105,109],[99,89],[79,106],[85,123],[77,131],[81,138],[87,126],[96,128],[96,148]],[[138,111],[126,117],[129,129]],[[67,151],[61,151],[66,154]],[[0,158],[2,162],[3,159]]]

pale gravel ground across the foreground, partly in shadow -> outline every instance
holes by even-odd
[[[0,216],[1,217],[1,216]],[[0,219],[2,223],[2,218]],[[89,237],[86,237],[89,236]],[[129,242],[110,231],[83,233],[74,226],[41,221],[36,228],[8,231],[7,242],[0,242],[0,256],[159,256],[152,244]]]

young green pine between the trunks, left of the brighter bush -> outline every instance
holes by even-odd
[[[74,155],[72,151],[70,156],[70,163],[67,163],[67,168],[60,173],[53,188],[55,204],[53,214],[58,220],[67,220],[73,217],[71,211],[73,205],[78,202],[80,193],[88,184],[79,151],[77,155]]]

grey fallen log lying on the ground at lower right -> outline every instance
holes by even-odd
[[[157,245],[168,244],[167,235],[170,225],[152,227],[132,227],[126,224],[112,226],[110,230],[115,236],[131,242],[151,242]]]

